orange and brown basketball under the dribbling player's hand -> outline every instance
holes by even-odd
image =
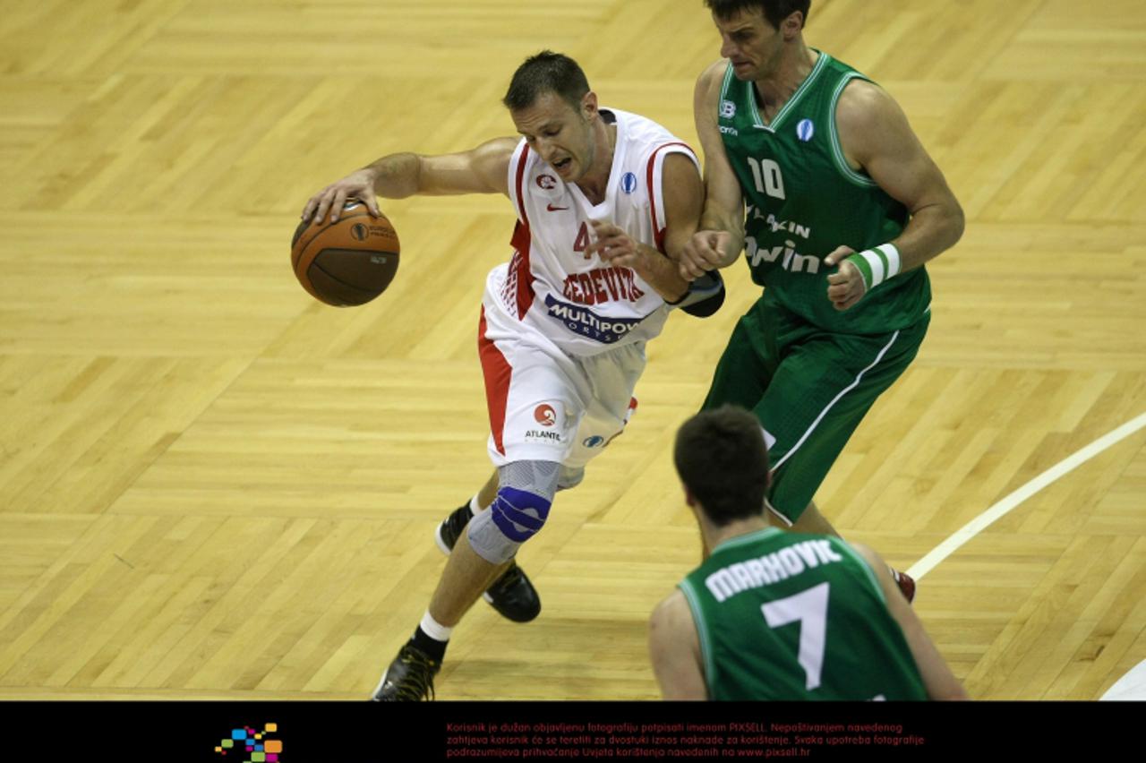
[[[312,297],[335,307],[364,305],[398,273],[398,234],[390,220],[348,199],[336,222],[300,222],[291,239],[295,276]]]

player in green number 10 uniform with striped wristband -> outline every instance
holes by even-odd
[[[768,433],[770,508],[835,530],[811,498],[848,438],[916,356],[923,265],[963,211],[895,101],[804,45],[810,0],[706,0],[724,60],[696,89],[707,191],[680,257],[698,277],[741,250],[763,297],[740,320],[702,409],[735,403]],[[900,580],[910,599],[915,583]]]

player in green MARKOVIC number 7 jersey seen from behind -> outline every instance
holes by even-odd
[[[769,526],[751,414],[693,416],[674,459],[706,559],[652,615],[665,699],[966,699],[872,550]]]

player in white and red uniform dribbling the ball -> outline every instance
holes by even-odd
[[[376,195],[497,192],[517,214],[513,255],[489,274],[478,331],[496,474],[439,527],[449,561],[376,700],[433,697],[450,632],[482,591],[512,620],[536,616],[518,548],[623,428],[644,345],[672,307],[706,315],[723,300],[719,281],[690,285],[666,255],[689,241],[704,200],[688,145],[643,117],[599,108],[580,66],[550,52],[521,64],[503,102],[520,137],[384,157],[303,212],[333,220],[347,199],[379,214]]]

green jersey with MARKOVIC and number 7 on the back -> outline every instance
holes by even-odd
[[[681,590],[708,699],[927,699],[871,567],[838,537],[775,527],[735,537]]]

